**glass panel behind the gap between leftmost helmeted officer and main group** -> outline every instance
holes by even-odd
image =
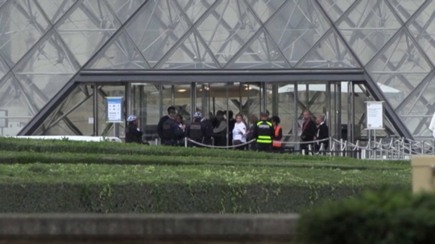
[[[139,119],[139,127],[145,134],[145,140],[155,142],[159,138],[157,124],[160,119],[160,85],[133,85],[133,113]],[[164,108],[166,110],[166,108]],[[166,111],[163,114],[167,114]]]

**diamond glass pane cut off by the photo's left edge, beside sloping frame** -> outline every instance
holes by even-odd
[[[0,81],[0,111],[6,113],[6,127],[0,128],[3,136],[16,135],[35,114],[18,82],[11,76]]]

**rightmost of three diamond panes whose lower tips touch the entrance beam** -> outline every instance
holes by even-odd
[[[314,0],[290,1],[267,24],[273,41],[294,66],[326,33],[330,25]]]

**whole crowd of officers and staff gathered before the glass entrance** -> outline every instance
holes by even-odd
[[[269,112],[261,112],[260,119],[254,114],[248,117],[249,127],[238,113],[235,117],[233,111],[216,112],[215,116],[207,118],[200,110],[193,115],[192,123],[185,125],[183,117],[176,113],[173,106],[168,107],[167,115],[160,118],[157,125],[157,134],[162,145],[177,146],[185,144],[185,137],[189,138],[188,146],[201,147],[206,145],[231,146],[239,150],[282,151],[283,129],[279,126],[278,116],[269,117]],[[308,151],[309,144],[316,150],[327,148],[329,137],[325,124],[325,116],[317,115],[312,119],[310,111],[303,112],[304,122],[300,135],[300,149]],[[125,142],[144,143],[143,132],[138,128],[135,115],[127,118],[125,129]],[[319,141],[320,140],[320,141]],[[316,142],[313,142],[316,141]],[[249,143],[248,143],[249,142]]]

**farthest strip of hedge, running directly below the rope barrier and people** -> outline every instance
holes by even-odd
[[[167,146],[144,146],[114,142],[78,142],[61,140],[31,140],[18,138],[0,138],[0,150],[29,151],[35,153],[71,153],[71,154],[101,154],[101,155],[142,155],[142,156],[173,156],[173,157],[209,157],[221,161],[296,161],[323,164],[344,165],[410,165],[409,161],[370,161],[356,160],[345,157],[316,157],[293,154],[267,154],[252,151],[223,150],[209,148],[184,148]],[[192,158],[193,159],[193,158]]]

